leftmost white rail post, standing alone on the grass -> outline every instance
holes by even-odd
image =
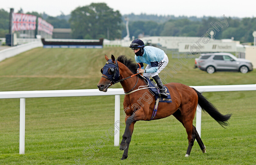
[[[20,99],[20,154],[25,154],[25,99]]]

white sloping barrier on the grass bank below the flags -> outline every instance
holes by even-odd
[[[18,46],[13,46],[11,48],[3,49],[0,51],[0,61],[3,61],[4,59],[16,56],[22,52],[26,52],[30,49],[34,49],[37,47],[42,47],[43,44],[41,41],[34,41]]]

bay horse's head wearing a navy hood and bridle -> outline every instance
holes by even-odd
[[[120,79],[119,68],[115,57],[112,55],[111,59],[108,59],[108,56],[105,55],[105,59],[107,62],[101,68],[102,76],[97,85],[99,90],[103,92],[107,92],[108,88]]]

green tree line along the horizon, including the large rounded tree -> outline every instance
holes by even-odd
[[[20,9],[19,12],[23,12]],[[126,36],[125,20],[129,18],[130,37],[144,36],[197,36],[200,37],[212,28],[210,23],[218,22],[216,17],[186,17],[173,15],[158,16],[140,14],[121,15],[109,8],[105,3],[77,7],[70,15],[52,17],[46,13],[28,12],[26,14],[42,17],[54,28],[71,28],[74,39],[122,39]],[[226,17],[228,27],[219,28],[215,39],[234,37],[240,42],[253,42],[252,32],[256,30],[256,18]],[[9,29],[9,13],[0,9],[0,37],[4,37]]]

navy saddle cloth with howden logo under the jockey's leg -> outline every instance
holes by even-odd
[[[150,79],[148,79],[147,77],[145,77],[147,80],[148,80],[148,87],[156,87],[157,85],[155,84],[155,82],[153,82],[153,81],[151,81]],[[146,82],[147,83],[147,82]],[[154,85],[154,84],[155,85]],[[155,99],[157,99],[159,96],[159,89],[158,88],[148,88],[152,93],[154,93],[154,95],[155,95]],[[167,94],[167,98],[162,98],[162,97],[159,97],[159,102],[161,102],[161,103],[172,103],[172,99],[171,99],[171,95],[170,95],[170,93],[169,93],[169,89],[166,87],[166,86],[164,86],[164,89],[165,89],[165,92],[166,92],[166,94]]]

